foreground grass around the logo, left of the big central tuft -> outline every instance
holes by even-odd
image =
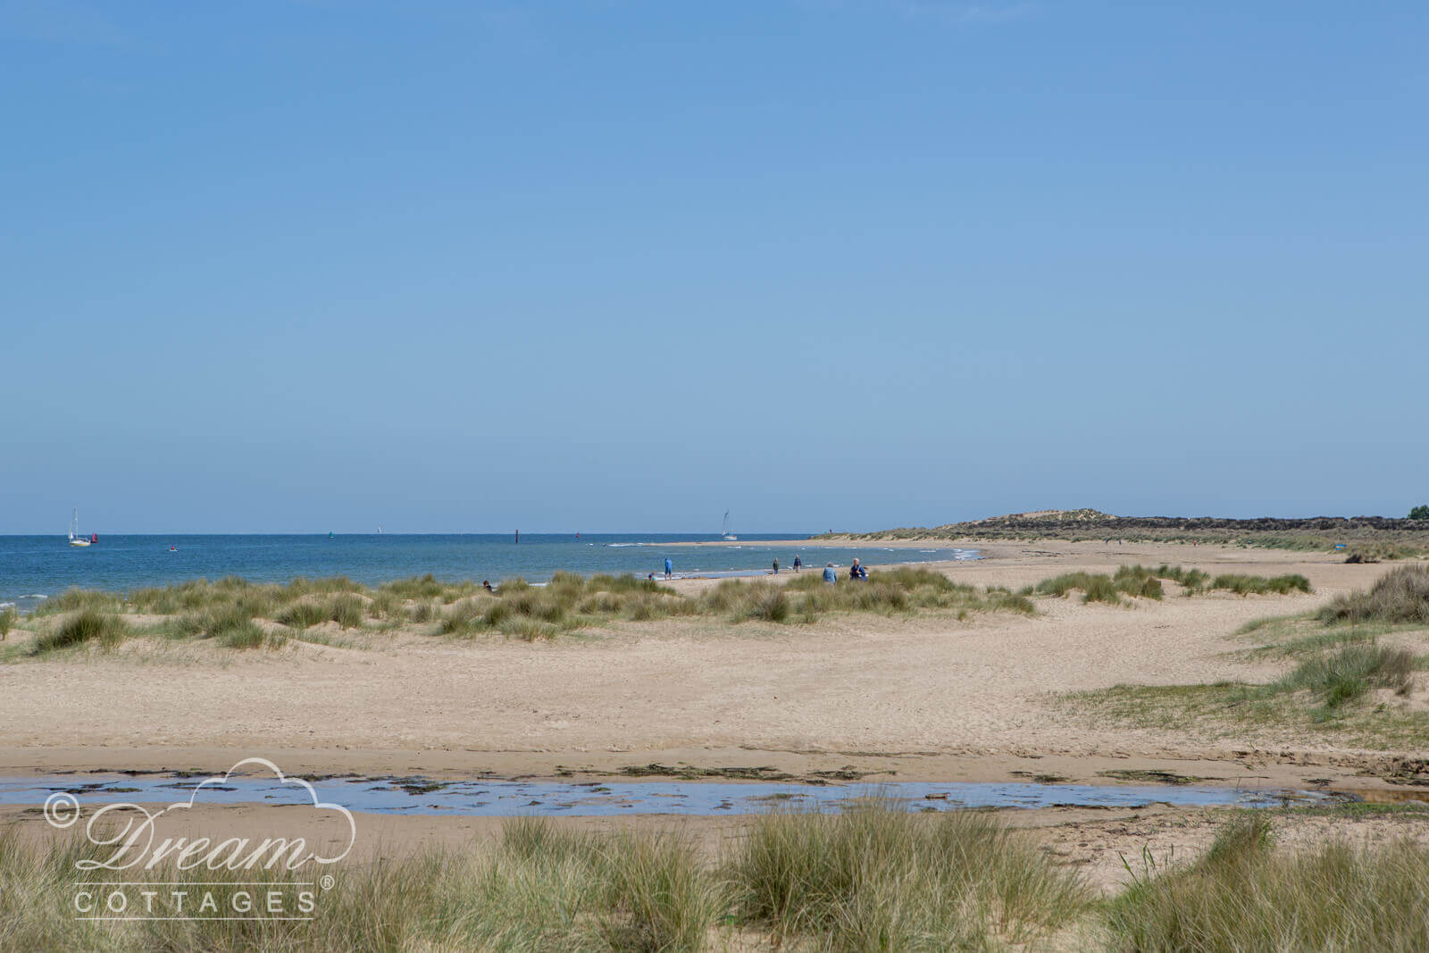
[[[344,867],[309,923],[76,920],[76,882],[113,879],[76,872],[97,852],[80,839],[46,852],[0,832],[0,949],[693,952],[706,949],[723,907],[720,883],[680,837],[592,836],[516,820],[490,852],[429,850]],[[190,899],[211,893],[220,910],[233,910],[237,894],[262,904],[269,889],[294,903],[280,887],[293,877],[283,873],[166,866],[144,879],[187,884]],[[129,892],[134,902],[137,890]]]

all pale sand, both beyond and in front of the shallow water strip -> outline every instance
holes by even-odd
[[[856,543],[873,566],[879,544]],[[720,543],[713,543],[719,546]],[[892,543],[890,543],[892,546]],[[136,639],[113,653],[0,666],[0,776],[94,772],[223,772],[266,757],[289,774],[429,779],[669,780],[767,769],[792,780],[839,772],[865,782],[1117,784],[1195,779],[1203,786],[1343,792],[1369,800],[1419,797],[1429,740],[1356,746],[1309,724],[1229,727],[1097,719],[1067,693],[1218,680],[1265,683],[1293,662],[1248,654],[1238,630],[1309,613],[1360,590],[1388,566],[1329,553],[1166,543],[969,543],[983,559],[935,564],[969,584],[1012,590],[1067,572],[1112,573],[1160,563],[1210,574],[1299,573],[1312,593],[1173,593],[1119,606],[1035,597],[1036,614],[843,613],[815,624],[684,617],[617,622],[526,643],[434,637],[420,627],[347,632],[333,644],[224,652]],[[925,544],[926,547],[926,544]],[[809,570],[806,570],[809,572]],[[817,572],[817,569],[812,570]],[[786,583],[789,572],[770,582]],[[719,580],[676,580],[700,593]],[[847,583],[842,583],[847,584]],[[23,644],[30,633],[11,633]],[[1422,650],[1425,633],[1393,633]],[[1423,710],[1416,684],[1393,699]],[[650,766],[660,766],[652,769]],[[63,773],[63,774],[60,774]],[[1408,782],[1408,783],[1406,783]],[[280,812],[272,814],[270,812]],[[206,836],[272,827],[282,809],[249,804],[194,814]],[[1223,809],[1047,807],[1003,810],[1047,854],[1112,892],[1123,856],[1143,849],[1196,856]],[[492,817],[360,816],[354,857],[493,843]],[[1429,839],[1418,816],[1290,817],[1290,844],[1350,836],[1363,843]],[[53,836],[33,807],[0,809],[0,824]],[[584,830],[676,830],[713,859],[746,817],[564,817]]]

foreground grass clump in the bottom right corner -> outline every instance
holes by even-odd
[[[1195,864],[1139,877],[1106,909],[1112,950],[1426,950],[1429,850],[1273,849],[1245,814]]]

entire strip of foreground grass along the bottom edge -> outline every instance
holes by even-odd
[[[1323,810],[1323,809],[1318,809]],[[100,850],[0,832],[0,949],[137,950],[1429,950],[1429,850],[1410,842],[1278,847],[1292,810],[1235,812],[1193,862],[1145,852],[1099,899],[1030,832],[979,812],[906,813],[872,800],[840,814],[752,819],[720,854],[679,832],[576,832],[543,819],[494,843],[344,863],[312,920],[80,920],[103,902]],[[1408,812],[1400,812],[1406,814]],[[171,864],[149,872],[196,912],[242,909],[280,872]],[[153,890],[153,887],[147,887]],[[171,903],[163,887],[153,903]],[[242,897],[249,897],[247,902]],[[237,904],[237,906],[236,906]],[[254,907],[262,909],[262,907]]]

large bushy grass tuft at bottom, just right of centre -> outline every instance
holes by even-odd
[[[1073,872],[986,814],[912,814],[879,802],[757,819],[729,877],[739,919],[832,950],[1025,943],[1087,899]]]

